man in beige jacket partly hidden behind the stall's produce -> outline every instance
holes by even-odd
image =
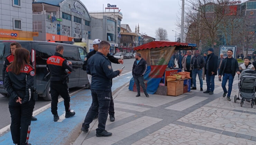
[[[192,68],[191,68],[191,59],[192,59],[192,57],[193,57],[192,51],[188,50],[187,55],[184,56],[184,58],[182,59],[182,62],[181,62],[184,71],[190,72],[191,87],[193,87]]]

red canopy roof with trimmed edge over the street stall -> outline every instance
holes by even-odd
[[[154,49],[154,48],[170,47],[170,46],[176,46],[175,50],[196,49],[196,44],[171,42],[171,41],[152,41],[144,45],[135,47],[134,50]]]

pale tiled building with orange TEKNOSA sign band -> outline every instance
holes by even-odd
[[[32,0],[1,0],[0,9],[0,40],[33,40]]]

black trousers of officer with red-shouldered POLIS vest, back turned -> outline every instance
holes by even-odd
[[[69,90],[68,90],[67,84],[62,84],[61,81],[51,81],[50,88],[51,88],[51,97],[52,97],[52,102],[51,102],[52,114],[55,115],[58,113],[57,105],[58,105],[58,96],[59,95],[61,95],[61,97],[64,99],[65,111],[69,112],[70,111],[70,96],[69,96]]]

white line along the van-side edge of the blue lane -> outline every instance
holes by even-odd
[[[79,90],[76,90],[76,91],[70,93],[70,96],[73,95],[73,94],[75,94],[75,93],[77,93],[78,91],[80,91],[80,90],[82,90],[82,89],[84,89],[84,88],[81,88],[81,89],[79,89]],[[63,100],[64,100],[63,98],[58,99],[58,103],[60,103],[60,102],[63,101]],[[33,112],[33,116],[38,115],[39,113],[43,112],[44,110],[46,110],[46,109],[48,109],[48,108],[50,108],[50,107],[51,107],[51,103],[49,103],[49,104],[47,104],[47,105],[45,105],[45,106],[43,106],[43,107],[41,107],[41,108],[35,110],[35,111]],[[65,115],[64,115],[64,117],[65,117]],[[6,133],[6,132],[10,129],[10,126],[11,126],[11,125],[9,124],[9,125],[7,125],[6,127],[3,127],[2,129],[0,129],[0,136],[1,136],[3,133]]]

